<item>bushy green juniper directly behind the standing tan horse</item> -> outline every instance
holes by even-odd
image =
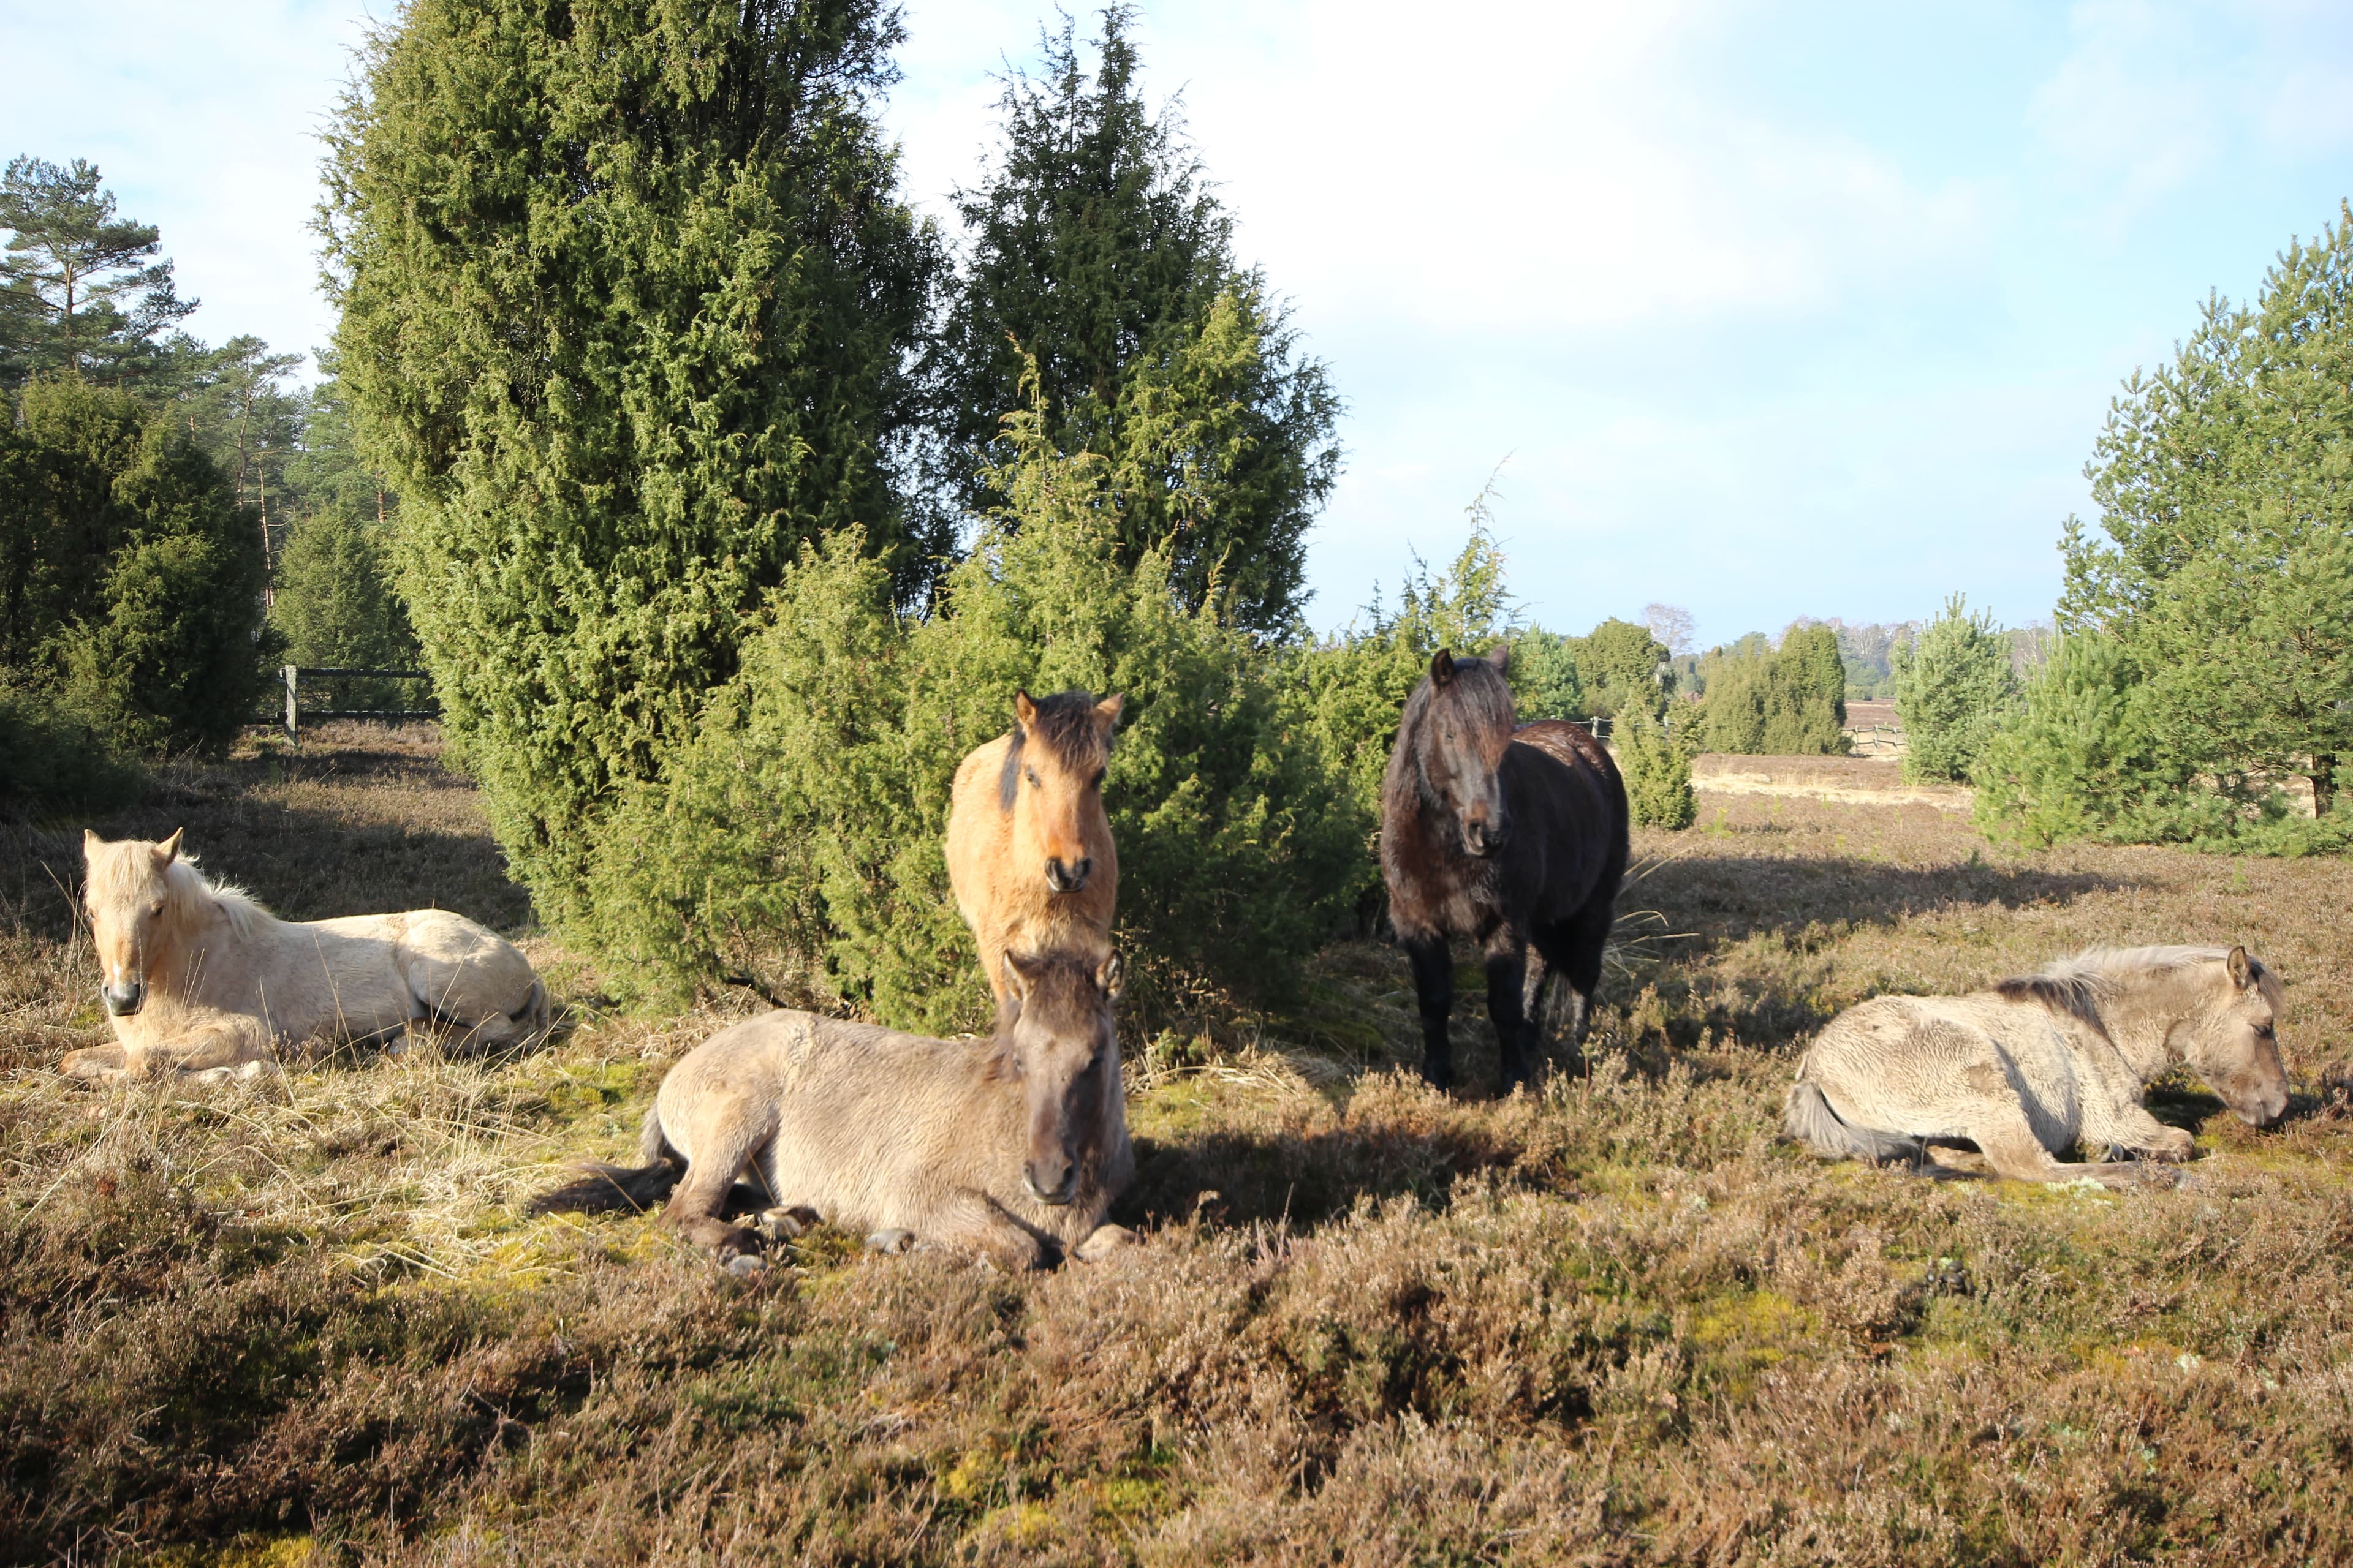
[[[600,832],[593,926],[666,985],[739,976],[925,1030],[979,1025],[988,990],[948,893],[955,764],[1016,689],[1127,698],[1106,806],[1139,1020],[1193,990],[1280,999],[1358,870],[1351,795],[1278,661],[1169,557],[1113,550],[1118,463],[1009,421],[1007,512],[901,616],[845,531],[805,548],[746,668],[659,780]]]

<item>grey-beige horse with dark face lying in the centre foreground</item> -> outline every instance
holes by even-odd
[[[1028,1269],[1134,1234],[1104,1211],[1134,1175],[1111,1004],[1120,959],[1007,957],[986,1046],[816,1013],[720,1030],[671,1067],[638,1168],[588,1166],[534,1213],[645,1208],[720,1262],[758,1267],[725,1218],[751,1173],[772,1215],[814,1213],[878,1251],[927,1246]]]

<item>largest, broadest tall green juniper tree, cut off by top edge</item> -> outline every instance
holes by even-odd
[[[329,136],[336,369],[402,588],[541,907],[739,665],[805,541],[901,599],[892,473],[936,242],[878,122],[878,0],[414,0]]]

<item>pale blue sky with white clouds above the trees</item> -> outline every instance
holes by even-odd
[[[318,132],[367,16],[0,0],[0,155],[96,162],[200,336],[320,346]],[[1042,21],[906,5],[887,122],[927,212]],[[2045,618],[2120,383],[2353,195],[2341,2],[1188,0],[1134,33],[1348,407],[1325,630],[1449,559],[1489,480],[1555,630]]]

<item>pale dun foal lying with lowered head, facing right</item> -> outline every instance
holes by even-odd
[[[1873,997],[1798,1063],[1788,1135],[1819,1154],[1915,1161],[1967,1140],[1995,1175],[2120,1182],[2132,1161],[2064,1164],[2078,1143],[2188,1159],[2141,1105],[2188,1067],[2249,1126],[2287,1110],[2280,978],[2245,947],[2094,947],[1967,997]]]

